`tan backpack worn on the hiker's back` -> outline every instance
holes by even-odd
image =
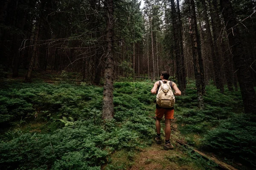
[[[160,84],[161,83],[161,84]],[[157,105],[161,108],[172,108],[175,104],[175,96],[172,92],[172,81],[159,81],[157,92]]]

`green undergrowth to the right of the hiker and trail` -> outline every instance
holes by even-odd
[[[254,115],[243,113],[240,91],[225,88],[221,94],[213,85],[206,87],[204,109],[197,107],[194,84],[186,95],[178,98],[177,123],[180,132],[191,146],[215,153],[237,168],[256,168],[256,123]],[[241,167],[245,165],[245,167]]]

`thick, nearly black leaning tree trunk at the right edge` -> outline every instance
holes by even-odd
[[[253,87],[253,79],[251,77],[250,67],[246,65],[244,49],[241,44],[239,28],[236,26],[236,16],[230,0],[220,0],[222,14],[224,17],[228,40],[233,54],[233,61],[236,68],[236,74],[244,102],[245,113],[256,113],[256,94]]]

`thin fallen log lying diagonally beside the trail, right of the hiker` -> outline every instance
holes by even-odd
[[[196,153],[200,154],[201,156],[204,156],[205,158],[214,161],[216,164],[218,164],[218,166],[220,166],[224,170],[237,170],[236,168],[232,167],[231,165],[226,164],[226,163],[224,163],[222,161],[219,161],[218,159],[213,158],[213,157],[211,157],[209,155],[206,155],[206,154],[200,152],[199,150],[194,149],[192,146],[189,146],[188,144],[183,143],[180,140],[176,140],[176,142],[178,142],[179,144],[185,145],[186,147],[189,147],[190,149],[194,150]]]

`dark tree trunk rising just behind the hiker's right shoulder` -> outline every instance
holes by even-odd
[[[185,94],[184,80],[183,80],[183,67],[182,60],[180,56],[180,44],[179,44],[179,32],[177,25],[177,15],[175,9],[174,0],[171,0],[171,8],[172,8],[172,26],[173,26],[173,38],[174,38],[174,48],[175,48],[175,57],[176,57],[176,67],[177,67],[177,79],[179,84],[179,89],[181,94]]]

